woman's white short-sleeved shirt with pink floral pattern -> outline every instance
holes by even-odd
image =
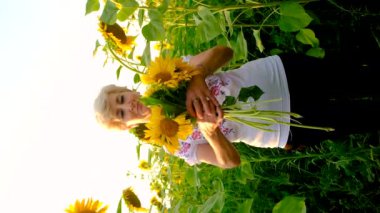
[[[185,61],[190,57],[185,57]],[[290,112],[290,96],[284,66],[278,56],[268,56],[247,62],[238,69],[226,72],[217,72],[206,78],[209,87],[218,102],[222,104],[226,96],[238,97],[242,87],[258,86],[264,91],[260,101],[279,99],[265,103],[259,110],[275,110]],[[290,117],[281,118],[282,122],[290,122]],[[285,147],[289,126],[274,124],[270,126],[274,131],[264,131],[244,124],[224,120],[220,130],[231,142],[243,142],[255,147]],[[175,153],[190,165],[200,163],[197,159],[198,144],[208,143],[200,131],[195,128],[185,141],[180,141],[181,148]]]

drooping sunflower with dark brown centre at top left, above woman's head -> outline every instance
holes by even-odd
[[[106,41],[110,41],[115,45],[115,50],[119,54],[132,50],[135,44],[136,36],[127,36],[125,31],[117,23],[108,25],[102,21],[99,22],[99,31],[102,33]]]

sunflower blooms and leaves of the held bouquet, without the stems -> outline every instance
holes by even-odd
[[[140,140],[174,153],[179,139],[185,140],[193,131],[194,119],[186,112],[186,88],[198,74],[181,58],[157,57],[141,76],[147,90],[141,102],[151,107],[149,123],[132,129]]]

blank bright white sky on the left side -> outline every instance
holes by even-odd
[[[131,185],[144,197],[147,185],[126,176],[135,139],[94,118],[100,88],[130,79],[92,55],[97,14],[85,16],[85,0],[0,1],[1,211],[59,213],[92,197],[116,212]]]

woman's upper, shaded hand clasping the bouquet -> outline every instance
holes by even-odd
[[[186,92],[186,109],[197,119],[215,114],[215,108],[220,107],[216,98],[211,95],[202,75],[194,76]]]

